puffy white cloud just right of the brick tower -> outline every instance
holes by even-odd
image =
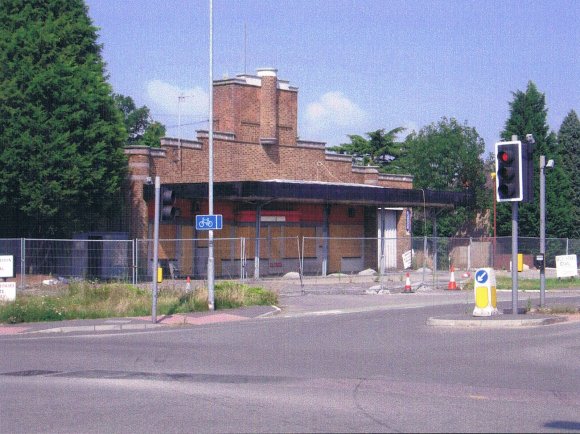
[[[347,134],[361,134],[367,122],[367,113],[356,103],[341,92],[327,92],[306,106],[300,129],[305,139],[334,144],[336,140],[344,141]]]

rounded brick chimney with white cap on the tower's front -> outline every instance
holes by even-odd
[[[260,90],[260,143],[273,145],[278,143],[278,77],[277,69],[262,68],[257,70],[262,81]]]

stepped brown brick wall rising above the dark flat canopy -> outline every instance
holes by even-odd
[[[298,140],[297,89],[275,70],[214,83],[214,181],[287,179],[412,188],[412,177],[357,167],[345,155],[327,154],[325,144]],[[275,139],[264,143],[261,139]],[[208,133],[197,140],[163,138],[160,148],[128,147],[131,236],[147,235],[143,183],[202,183],[208,179]],[[404,220],[398,223],[404,231]],[[346,230],[346,229],[344,229]],[[361,236],[355,228],[349,236]],[[367,232],[367,229],[364,230]]]

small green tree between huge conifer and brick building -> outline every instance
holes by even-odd
[[[159,147],[165,126],[151,120],[147,106],[137,107],[130,96],[114,94],[115,104],[123,113],[127,130],[127,145]]]

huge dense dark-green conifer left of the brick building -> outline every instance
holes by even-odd
[[[0,2],[0,120],[0,234],[104,228],[125,131],[82,0]]]

